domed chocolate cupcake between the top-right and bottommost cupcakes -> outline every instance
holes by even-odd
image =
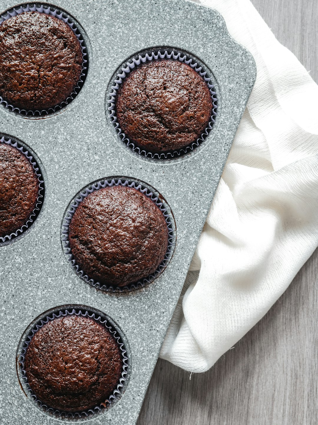
[[[70,221],[69,242],[89,278],[126,286],[156,271],[167,252],[168,228],[146,195],[132,187],[110,186],[79,204]]]

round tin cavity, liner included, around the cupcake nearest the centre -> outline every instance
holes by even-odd
[[[148,275],[147,277],[138,280],[137,282],[129,283],[125,286],[116,286],[114,284],[110,285],[106,283],[100,283],[98,280],[89,277],[86,274],[86,272],[82,270],[81,267],[76,263],[70,248],[70,241],[69,241],[70,222],[73,218],[73,215],[77,207],[90,193],[95,192],[96,190],[99,190],[104,187],[112,187],[112,186],[131,187],[143,193],[144,195],[146,195],[161,210],[165,218],[167,229],[168,229],[167,251],[165,253],[165,257],[163,261],[159,264],[156,271],[153,272],[151,275]],[[71,203],[67,207],[67,210],[65,212],[64,219],[62,222],[62,226],[61,226],[61,242],[62,242],[64,254],[67,260],[70,262],[76,274],[80,278],[85,280],[87,283],[91,284],[92,286],[95,286],[95,288],[101,289],[103,291],[109,291],[109,292],[128,292],[134,289],[138,289],[142,286],[145,286],[148,283],[151,283],[153,280],[155,280],[165,270],[167,264],[169,263],[173,255],[175,241],[176,241],[176,227],[173,220],[172,212],[170,210],[170,207],[166,203],[166,201],[162,198],[162,196],[159,193],[156,193],[156,190],[153,189],[150,185],[142,181],[138,181],[136,179],[128,178],[128,177],[109,177],[109,178],[95,181],[92,184],[89,184],[88,186],[84,187],[84,189],[81,190],[75,196],[73,201],[71,201]]]

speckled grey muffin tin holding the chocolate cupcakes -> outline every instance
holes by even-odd
[[[17,6],[0,1],[0,9]],[[251,54],[228,34],[218,12],[186,0],[58,0],[75,18],[89,69],[75,99],[45,118],[21,116],[0,105],[0,133],[27,144],[44,176],[42,210],[22,235],[0,246],[0,423],[56,422],[133,425],[167,326],[204,225],[229,149],[256,77]],[[218,111],[204,142],[192,152],[156,160],[133,152],[117,135],[107,110],[115,73],[132,55],[162,48],[198,58],[215,85]],[[173,257],[152,283],[132,292],[103,292],[73,271],[61,246],[61,224],[76,193],[112,176],[155,188],[176,225]],[[120,329],[128,356],[126,385],[111,407],[86,419],[61,419],[26,397],[17,356],[25,331],[56,306],[84,305]]]

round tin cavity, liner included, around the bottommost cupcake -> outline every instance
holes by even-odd
[[[117,347],[119,349],[121,362],[122,362],[122,371],[120,374],[120,378],[118,380],[117,386],[114,389],[111,396],[106,399],[104,402],[96,405],[93,408],[89,408],[83,411],[77,412],[69,412],[69,411],[61,411],[56,408],[51,408],[49,405],[43,403],[37,396],[34,394],[30,385],[28,384],[28,378],[26,376],[25,371],[25,355],[28,350],[28,346],[31,343],[33,336],[36,332],[42,328],[46,323],[53,321],[60,317],[66,316],[81,316],[87,317],[94,320],[96,323],[105,326],[106,330],[109,331],[110,334],[114,337],[116,341]],[[127,353],[128,348],[128,353]],[[33,320],[32,323],[28,326],[28,328],[23,333],[19,346],[17,348],[17,373],[18,379],[20,381],[22,390],[27,394],[28,399],[33,402],[38,408],[44,411],[47,414],[55,415],[62,419],[68,420],[78,420],[78,419],[89,419],[92,415],[97,414],[105,408],[114,405],[118,399],[120,399],[123,394],[126,386],[128,385],[128,356],[129,356],[129,347],[126,337],[123,335],[123,332],[120,330],[119,326],[114,323],[114,321],[108,317],[105,313],[94,309],[88,306],[82,305],[64,305],[55,307],[50,309],[44,313],[42,313],[39,317]]]

